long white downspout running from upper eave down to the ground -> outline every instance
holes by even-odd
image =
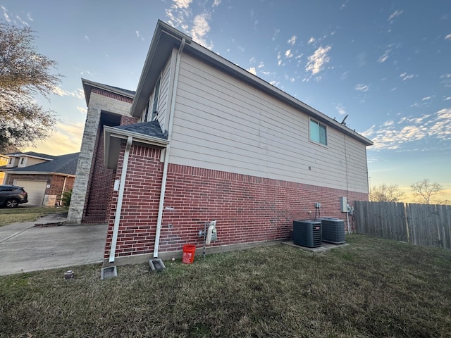
[[[171,136],[172,136],[172,125],[175,111],[175,98],[177,94],[178,87],[178,73],[180,71],[180,58],[182,57],[182,51],[185,47],[186,39],[183,38],[180,43],[180,47],[177,52],[177,59],[175,61],[175,75],[171,98],[171,110],[169,111],[169,121],[168,121],[168,145],[166,146],[166,151],[164,153],[164,164],[163,164],[163,177],[161,178],[161,192],[160,192],[160,204],[158,207],[158,218],[156,220],[156,233],[155,233],[155,245],[154,245],[154,258],[158,258],[158,248],[160,245],[160,235],[161,235],[161,220],[163,220],[163,206],[164,206],[164,194],[166,193],[166,180],[168,179],[168,162],[169,162],[169,150],[171,149]]]

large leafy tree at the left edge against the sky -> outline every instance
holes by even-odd
[[[0,23],[0,151],[7,146],[27,146],[54,130],[54,111],[33,100],[46,99],[61,75],[52,75],[56,61],[37,53],[30,27]]]

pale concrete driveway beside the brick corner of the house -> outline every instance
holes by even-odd
[[[53,214],[0,227],[0,275],[103,262],[108,226],[56,225],[65,220]]]

